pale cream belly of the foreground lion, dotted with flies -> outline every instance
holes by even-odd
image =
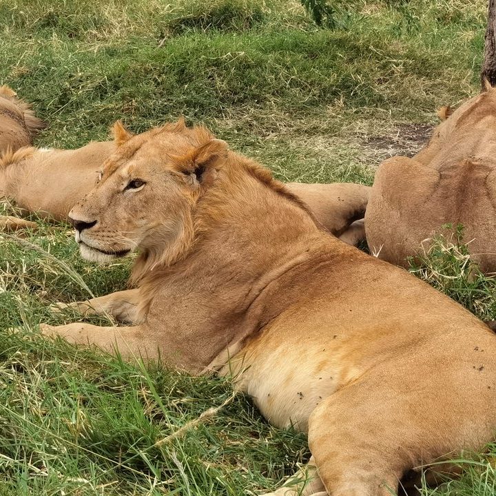
[[[302,338],[274,347],[271,338],[249,344],[221,373],[232,373],[271,424],[306,432],[313,409],[360,371],[338,358],[332,343]]]

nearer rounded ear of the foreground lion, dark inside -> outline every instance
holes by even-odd
[[[227,158],[227,143],[211,139],[180,160],[181,172],[189,174],[194,183],[206,185]]]

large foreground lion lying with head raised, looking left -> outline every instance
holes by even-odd
[[[139,289],[72,306],[131,325],[45,335],[234,375],[269,422],[308,432],[310,480],[278,495],[390,495],[409,469],[493,439],[496,336],[471,313],[320,229],[203,127],[117,140],[70,217],[88,260],[140,250]]]

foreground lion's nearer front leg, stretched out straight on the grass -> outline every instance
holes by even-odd
[[[40,324],[45,336],[65,338],[72,344],[94,344],[108,353],[120,354],[125,360],[158,358],[158,343],[147,339],[141,326],[100,327],[86,322],[74,322],[61,326]]]

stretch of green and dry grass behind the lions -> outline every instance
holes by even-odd
[[[105,138],[116,118],[140,131],[184,114],[282,177],[367,183],[385,156],[377,138],[435,123],[436,107],[477,87],[482,0],[355,1],[332,32],[298,2],[208,4],[5,1],[0,80],[52,123],[43,145]]]

